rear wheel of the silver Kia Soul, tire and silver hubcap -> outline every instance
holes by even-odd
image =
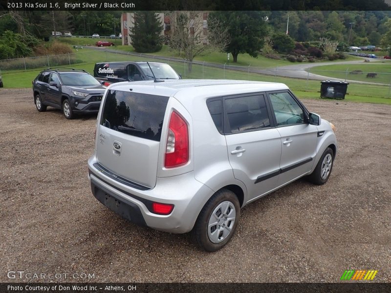
[[[191,231],[192,240],[204,251],[218,251],[235,234],[239,218],[238,197],[230,190],[221,189],[208,200],[199,213]]]

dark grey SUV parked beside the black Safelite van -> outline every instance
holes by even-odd
[[[39,112],[47,106],[61,109],[66,119],[77,113],[97,113],[106,87],[84,70],[46,69],[33,81],[34,104]]]

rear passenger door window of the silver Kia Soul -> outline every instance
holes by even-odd
[[[243,96],[225,99],[229,127],[227,133],[270,127],[263,95]]]

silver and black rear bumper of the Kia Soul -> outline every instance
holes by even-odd
[[[141,190],[113,180],[94,167],[94,163],[97,161],[91,157],[88,178],[93,195],[107,208],[140,226],[172,233],[189,232],[214,194],[212,189],[195,180],[194,172],[157,178],[154,188]],[[155,214],[151,211],[152,202],[172,204],[174,209],[169,215]]]

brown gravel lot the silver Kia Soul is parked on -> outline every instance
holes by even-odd
[[[31,89],[1,89],[0,282],[48,281],[8,271],[67,282],[338,282],[347,269],[390,282],[391,106],[303,102],[337,127],[329,181],[299,180],[246,206],[232,241],[207,253],[188,234],[140,228],[92,196],[96,116],[39,113]]]

